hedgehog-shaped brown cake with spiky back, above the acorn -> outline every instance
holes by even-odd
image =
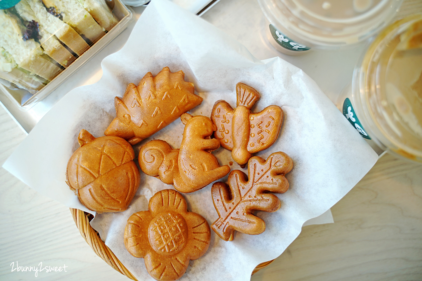
[[[163,68],[157,76],[148,72],[138,86],[130,83],[122,99],[115,97],[116,118],[105,135],[115,135],[134,145],[161,130],[182,113],[202,102],[194,85],[184,81],[183,71]]]

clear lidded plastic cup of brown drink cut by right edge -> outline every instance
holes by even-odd
[[[422,14],[381,31],[337,107],[379,149],[422,162]]]

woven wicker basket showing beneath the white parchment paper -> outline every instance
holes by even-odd
[[[92,250],[94,250],[95,254],[98,257],[104,259],[108,265],[113,267],[115,270],[119,271],[123,275],[129,277],[132,280],[136,280],[135,276],[127,270],[126,267],[119,261],[119,259],[113,254],[113,252],[106,246],[106,244],[101,240],[100,235],[97,231],[95,231],[89,221],[92,219],[92,215],[89,213],[85,213],[79,209],[70,208],[70,212],[72,213],[73,220],[76,223],[76,227],[78,227],[79,232],[81,232],[82,237],[87,241],[88,245],[91,246]],[[257,267],[254,268],[252,274],[256,273],[261,268],[266,267],[269,265],[273,260],[268,262],[262,262]]]

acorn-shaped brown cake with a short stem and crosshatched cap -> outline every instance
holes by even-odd
[[[126,210],[141,181],[132,146],[115,136],[94,138],[87,130],[79,132],[78,141],[81,147],[67,167],[70,189],[92,211]]]

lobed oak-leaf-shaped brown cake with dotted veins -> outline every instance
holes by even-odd
[[[284,152],[275,152],[267,160],[254,156],[248,161],[248,175],[241,170],[229,174],[228,185],[216,182],[211,188],[214,207],[219,218],[211,228],[223,240],[233,240],[234,231],[260,234],[265,222],[254,211],[275,212],[280,206],[277,196],[266,192],[284,193],[289,182],[284,177],[293,168],[293,161]]]

